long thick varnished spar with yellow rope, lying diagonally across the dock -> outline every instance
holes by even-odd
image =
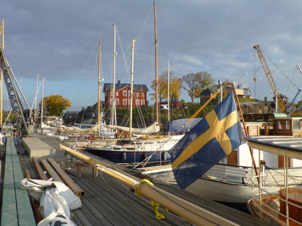
[[[108,174],[126,186],[131,187],[133,190],[139,189],[141,195],[157,202],[159,205],[169,209],[171,212],[188,220],[192,224],[208,226],[238,225],[155,186],[151,186],[147,183],[140,183],[133,177],[106,167],[101,162],[92,159],[85,154],[79,153],[76,150],[61,144],[59,145],[59,148],[71,153],[72,155],[76,155],[80,159],[84,159],[89,165],[95,166],[98,170]]]

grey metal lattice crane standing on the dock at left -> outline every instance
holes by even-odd
[[[12,112],[16,119],[19,135],[31,136],[34,134],[34,122],[38,120],[38,110],[29,108],[26,99],[17,83],[16,78],[9,66],[0,41],[0,67],[8,91],[8,98],[11,102]],[[14,85],[16,84],[17,87]],[[20,95],[18,93],[20,92]],[[23,108],[24,102],[27,108]]]

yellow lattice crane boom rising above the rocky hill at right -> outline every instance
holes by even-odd
[[[253,48],[256,49],[256,51],[257,51],[257,54],[258,54],[259,60],[260,60],[260,62],[262,64],[262,67],[263,67],[263,70],[265,72],[265,75],[266,75],[266,77],[268,79],[269,84],[271,85],[271,90],[273,92],[276,92],[276,90],[277,90],[276,83],[275,83],[275,81],[273,79],[273,76],[271,75],[271,71],[268,68],[268,65],[267,65],[267,63],[265,61],[265,58],[264,58],[264,56],[263,56],[263,54],[262,54],[262,52],[260,50],[259,45],[255,45],[255,46],[253,46]],[[281,96],[280,96],[280,94],[278,92],[277,92],[276,96],[277,96],[276,98],[278,100],[278,106],[281,109],[281,112],[282,113],[286,113],[283,100],[281,99]]]

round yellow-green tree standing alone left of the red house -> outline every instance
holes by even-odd
[[[43,98],[43,115],[63,116],[63,111],[71,107],[71,102],[61,95],[51,95]],[[39,103],[41,112],[42,101]]]

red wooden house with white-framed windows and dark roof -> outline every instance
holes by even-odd
[[[115,97],[115,106],[117,108],[126,108],[130,106],[130,84],[120,83],[120,80],[115,83],[115,95],[113,95],[113,86],[111,83],[104,83],[103,93],[105,93],[105,107],[112,106],[113,98]],[[146,85],[133,84],[133,101],[134,107],[148,107]],[[113,97],[114,96],[114,97]]]

